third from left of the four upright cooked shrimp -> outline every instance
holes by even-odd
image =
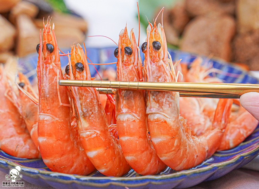
[[[133,29],[130,39],[127,26],[121,30],[119,48],[114,54],[118,58],[117,81],[143,81],[142,62]],[[119,140],[129,165],[142,175],[153,175],[165,169],[166,165],[157,156],[147,131],[144,92],[119,89],[115,102]]]

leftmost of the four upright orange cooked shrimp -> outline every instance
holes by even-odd
[[[58,44],[49,20],[40,35],[37,65],[39,87],[38,143],[44,163],[52,171],[87,175],[95,167],[87,158],[71,126],[72,105],[63,79]]]

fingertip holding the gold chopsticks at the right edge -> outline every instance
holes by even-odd
[[[247,92],[240,97],[240,104],[259,120],[259,93]]]

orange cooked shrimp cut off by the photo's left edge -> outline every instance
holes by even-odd
[[[15,105],[16,94],[8,83],[3,64],[0,65],[0,96],[0,149],[14,157],[39,158],[39,150]]]

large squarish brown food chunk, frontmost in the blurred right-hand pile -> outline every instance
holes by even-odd
[[[231,40],[235,35],[232,16],[199,16],[186,26],[180,49],[230,61]]]

